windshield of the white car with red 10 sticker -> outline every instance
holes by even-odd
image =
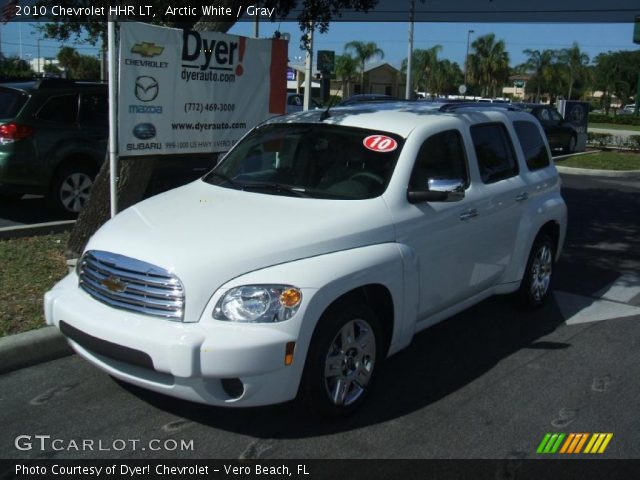
[[[271,124],[245,137],[204,177],[259,193],[361,200],[387,188],[403,139],[335,125]]]

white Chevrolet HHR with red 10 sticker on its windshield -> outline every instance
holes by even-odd
[[[494,294],[542,305],[566,220],[527,113],[274,117],[201,180],[107,222],[45,316],[140,387],[229,407],[301,395],[348,414],[415,333]]]

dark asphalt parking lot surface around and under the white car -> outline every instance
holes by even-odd
[[[640,458],[639,180],[564,175],[570,223],[554,301],[523,313],[495,297],[422,332],[353,417],[206,407],[72,356],[0,377],[0,457],[523,459],[547,432],[610,432],[600,458]],[[19,435],[95,443],[19,450]],[[192,449],[150,448],[168,439]]]

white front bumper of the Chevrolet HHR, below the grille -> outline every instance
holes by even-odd
[[[181,323],[126,312],[97,302],[70,274],[45,295],[47,324],[55,325],[82,357],[125,382],[186,400],[258,406],[295,398],[306,347],[297,342],[304,317],[278,324],[236,324],[205,318]],[[207,312],[207,310],[205,310]],[[229,393],[223,380],[242,382]]]

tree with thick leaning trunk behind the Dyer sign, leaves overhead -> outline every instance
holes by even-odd
[[[46,3],[46,2],[44,2]],[[113,2],[109,0],[92,0],[91,4],[96,7],[108,7]],[[148,4],[153,4],[158,11],[165,11],[166,7],[189,6],[189,0],[149,0]],[[228,7],[236,11],[238,7],[246,8],[255,4],[251,0],[215,0],[210,2],[214,7]],[[339,16],[342,10],[353,9],[367,12],[376,3],[376,0],[263,0],[261,6],[275,8],[275,16],[285,18],[291,11],[294,11],[299,3],[302,8],[298,14],[298,24],[302,31],[301,43],[307,45],[307,34],[311,30],[326,32],[329,28],[330,20]],[[85,6],[86,0],[60,0],[58,4],[70,6]],[[154,23],[170,25],[182,28],[194,28],[199,31],[227,32],[235,21],[222,22],[217,18],[199,16],[182,16],[180,21],[158,16]],[[86,38],[86,41],[95,45],[99,40],[104,43],[106,23],[95,22],[93,17],[81,17],[73,15],[69,17],[58,16],[56,21],[44,24],[42,29],[48,38],[57,40],[69,40],[70,38]],[[121,161],[118,172],[118,195],[120,210],[133,205],[142,198],[151,175],[155,169],[158,158],[130,157]],[[93,194],[88,204],[80,213],[78,220],[71,232],[67,244],[67,255],[78,256],[82,252],[88,239],[93,233],[109,218],[109,162],[104,162],[98,176],[95,179]]]

